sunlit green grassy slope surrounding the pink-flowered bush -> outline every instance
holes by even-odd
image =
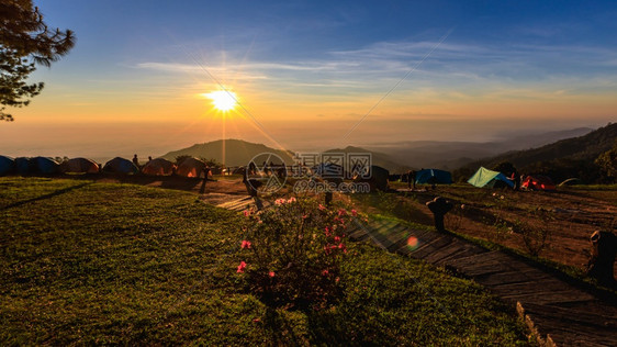
[[[238,217],[183,192],[0,178],[0,342],[525,342],[480,287],[364,244],[350,248],[338,306],[268,309],[235,273]]]

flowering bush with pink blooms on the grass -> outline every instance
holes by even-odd
[[[341,259],[355,210],[326,209],[312,199],[279,199],[270,209],[245,211],[246,239],[237,272],[263,302],[321,309],[340,298]]]

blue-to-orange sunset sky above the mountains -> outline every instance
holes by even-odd
[[[34,3],[77,44],[0,123],[9,156],[485,142],[617,120],[614,1]],[[215,110],[215,90],[239,104]]]

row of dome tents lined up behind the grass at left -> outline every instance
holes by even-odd
[[[58,164],[56,160],[48,157],[34,157],[34,158],[11,158],[0,156],[0,176],[7,175],[54,175],[54,174],[122,174],[135,175],[144,174],[152,176],[171,176],[178,175],[181,177],[200,177],[205,172],[206,165],[197,158],[186,158],[179,166],[164,159],[156,158],[148,161],[143,168],[138,168],[133,161],[115,157],[102,167],[93,160],[87,158],[71,158],[67,161]]]

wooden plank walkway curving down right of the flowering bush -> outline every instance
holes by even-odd
[[[416,231],[377,221],[350,228],[356,240],[372,240],[388,251],[444,266],[473,279],[518,313],[548,346],[617,346],[617,306],[498,250],[487,250],[450,234]]]

